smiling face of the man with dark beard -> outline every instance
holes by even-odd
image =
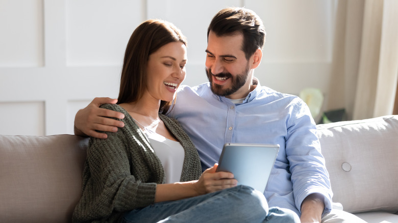
[[[240,33],[219,37],[210,31],[206,73],[214,94],[231,99],[246,97],[252,80],[242,44],[243,35]]]

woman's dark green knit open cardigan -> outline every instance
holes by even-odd
[[[115,104],[101,107],[123,113],[125,127],[107,132],[106,140],[90,138],[73,222],[117,222],[123,213],[153,204],[156,185],[165,180],[162,163],[127,111]],[[197,180],[201,163],[189,136],[177,120],[159,117],[185,150],[180,181]]]

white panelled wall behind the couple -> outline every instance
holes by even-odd
[[[207,26],[227,6],[253,9],[264,21],[255,75],[262,85],[327,95],[334,1],[0,0],[0,134],[72,134],[78,109],[96,96],[117,98],[126,44],[148,18],[171,21],[187,36],[184,83],[207,81]]]

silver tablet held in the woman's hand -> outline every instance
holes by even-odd
[[[227,143],[218,160],[218,171],[231,172],[238,185],[264,192],[279,145]]]

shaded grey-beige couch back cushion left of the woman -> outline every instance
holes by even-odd
[[[0,135],[0,222],[70,222],[88,138]]]

